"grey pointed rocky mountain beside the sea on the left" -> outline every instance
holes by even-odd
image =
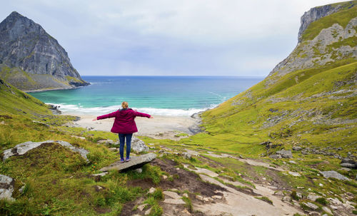
[[[12,12],[0,23],[0,77],[24,91],[86,86],[55,38]]]

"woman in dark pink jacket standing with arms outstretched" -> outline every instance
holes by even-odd
[[[121,109],[116,110],[114,113],[109,113],[106,115],[98,116],[94,118],[94,120],[100,120],[104,118],[114,118],[114,124],[111,128],[112,133],[119,134],[119,153],[120,153],[120,162],[124,163],[124,143],[126,139],[126,162],[130,160],[130,149],[131,149],[131,137],[133,133],[138,132],[138,128],[136,128],[136,123],[134,118],[136,116],[146,117],[146,118],[154,118],[153,116],[146,113],[139,113],[131,108],[128,108],[128,102],[124,101],[121,103]]]

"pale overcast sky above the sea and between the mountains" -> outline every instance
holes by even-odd
[[[328,0],[1,0],[57,39],[82,76],[267,76]]]

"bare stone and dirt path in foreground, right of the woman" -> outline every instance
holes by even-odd
[[[180,155],[171,148],[164,148],[164,150],[164,154]],[[268,163],[258,160],[237,158],[228,154],[218,155],[184,150],[190,157],[194,155],[196,158],[204,158],[208,155],[216,158],[234,158],[252,166],[286,171],[280,167],[273,168]],[[181,153],[181,155],[186,157],[186,153]],[[172,181],[164,178],[157,185],[164,190],[164,200],[160,203],[164,210],[163,215],[294,215],[295,213],[304,215],[297,203],[293,205],[291,202],[282,201],[283,196],[279,193],[276,194],[278,188],[271,185],[246,185],[242,182],[222,178],[211,170],[192,167],[188,164],[183,164],[184,169],[180,169],[177,168],[178,164],[174,161],[162,158],[154,160],[152,164],[160,166],[161,170],[177,178]],[[139,182],[137,183],[140,185]],[[134,186],[136,185],[134,184]],[[144,186],[150,187],[151,185]],[[186,202],[183,202],[183,197],[188,197],[191,200],[191,209]],[[259,199],[259,197],[266,197],[271,200],[272,204]],[[135,205],[140,205],[140,203]],[[136,210],[133,214],[146,215],[146,212]]]

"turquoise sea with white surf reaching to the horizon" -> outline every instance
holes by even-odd
[[[69,90],[30,93],[63,113],[101,115],[129,108],[151,115],[190,116],[245,91],[263,77],[82,76],[91,83]]]

